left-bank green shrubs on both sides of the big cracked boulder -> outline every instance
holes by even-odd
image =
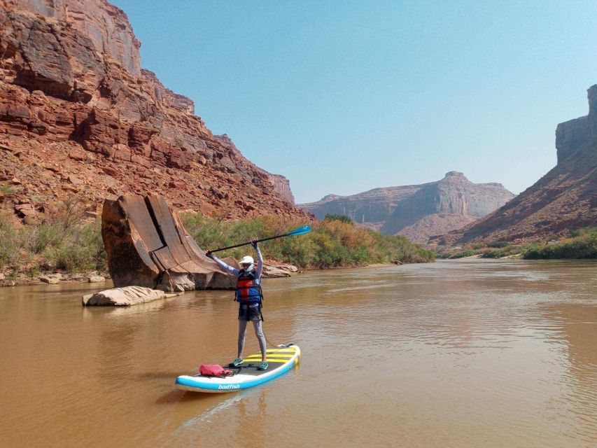
[[[8,211],[0,211],[0,273],[36,275],[41,272],[106,272],[106,251],[101,239],[101,220],[85,218],[76,201],[59,203],[41,221],[22,224]],[[199,214],[182,214],[190,235],[204,248],[231,246],[252,236],[280,235],[303,222],[280,216],[242,221],[223,221]],[[300,237],[267,241],[262,246],[270,260],[303,268],[367,265],[377,262],[427,262],[435,253],[405,237],[386,237],[357,228],[352,222],[331,216],[311,224],[313,231]],[[247,247],[223,255],[240,258]]]

